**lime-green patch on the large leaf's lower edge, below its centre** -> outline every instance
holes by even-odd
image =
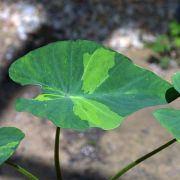
[[[71,97],[74,107],[73,111],[80,119],[87,120],[92,127],[109,129],[117,127],[122,117],[111,111],[107,106],[97,101],[89,100],[83,97]]]

